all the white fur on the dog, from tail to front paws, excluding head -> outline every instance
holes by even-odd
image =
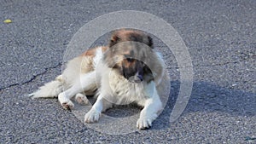
[[[97,48],[92,61],[94,70],[90,72],[81,69],[81,66],[82,68],[88,66],[89,57],[79,56],[70,60],[63,74],[55,78],[55,81],[45,84],[38,91],[32,93],[32,98],[58,95],[61,106],[69,109],[74,106],[71,101],[73,96],[79,103],[86,103],[88,100],[85,95],[94,92],[99,84],[96,103],[84,116],[86,123],[98,121],[101,113],[112,107],[113,104],[136,102],[143,107],[140,118],[137,120],[137,128],[143,130],[150,127],[154,119],[157,118],[157,112],[162,108],[156,85],[160,83],[163,74],[156,76],[156,83],[154,81],[131,83],[115,70],[108,68],[104,64],[102,56],[102,48]],[[160,64],[163,64],[160,56],[158,58]],[[82,92],[85,95],[80,94]]]

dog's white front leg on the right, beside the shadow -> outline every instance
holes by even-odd
[[[154,86],[154,84],[152,84],[152,86]],[[148,88],[150,89],[152,87]],[[140,113],[140,118],[137,120],[137,128],[139,130],[145,130],[151,127],[152,122],[158,116],[157,112],[162,109],[162,103],[155,87],[153,91],[150,89],[148,92],[148,99],[145,101],[144,108]]]

